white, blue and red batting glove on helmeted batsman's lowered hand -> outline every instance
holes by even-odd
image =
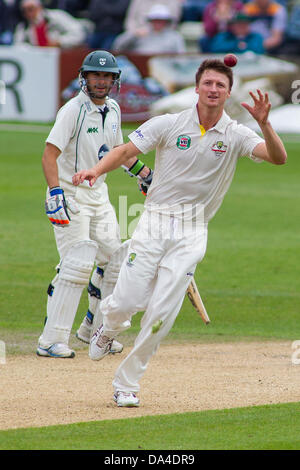
[[[65,227],[70,223],[68,209],[73,214],[79,212],[75,204],[65,199],[64,191],[59,186],[50,189],[50,197],[46,199],[45,209],[50,222],[58,227]]]

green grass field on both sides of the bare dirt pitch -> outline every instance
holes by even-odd
[[[124,129],[127,135],[129,126]],[[16,125],[0,129],[0,134],[0,340],[8,355],[34,354],[47,286],[58,262],[44,214],[41,155],[47,129],[20,130]],[[185,299],[166,341],[300,340],[299,143],[286,139],[286,148],[284,166],[248,159],[238,163],[232,186],[210,223],[207,253],[195,275],[212,322],[202,325]],[[143,159],[152,166],[154,155]],[[136,181],[119,169],[107,182],[118,216],[119,197],[127,195],[127,223],[132,227],[144,201]],[[86,305],[83,296],[82,312]],[[129,342],[139,318],[125,333]],[[74,331],[80,321],[77,316]],[[299,449],[297,414],[298,403],[274,404],[0,431],[0,449]],[[124,429],[130,438],[125,439]],[[148,432],[142,436],[143,429]],[[96,436],[103,431],[106,439],[99,443]],[[137,435],[142,437],[133,437]]]

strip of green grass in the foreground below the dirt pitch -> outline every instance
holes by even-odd
[[[299,403],[0,431],[6,450],[296,450]]]

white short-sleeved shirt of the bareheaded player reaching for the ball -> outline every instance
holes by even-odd
[[[204,221],[208,222],[229,189],[238,158],[262,161],[252,151],[264,140],[237,124],[225,111],[213,128],[203,132],[201,127],[195,106],[154,117],[129,135],[144,154],[156,148],[147,209],[162,211],[162,207],[172,210],[181,206],[187,213],[190,207],[201,205]]]

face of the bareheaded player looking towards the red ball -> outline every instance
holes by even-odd
[[[200,105],[208,108],[223,107],[230,96],[229,78],[213,69],[205,70],[196,86],[196,93]]]

